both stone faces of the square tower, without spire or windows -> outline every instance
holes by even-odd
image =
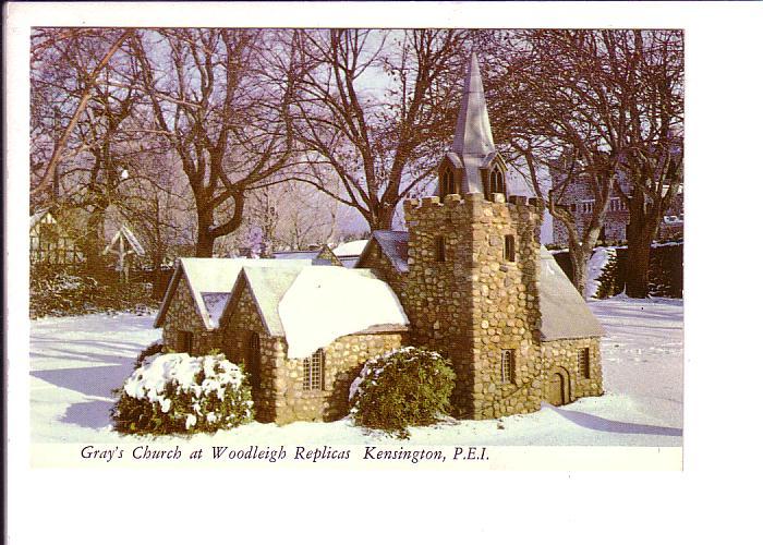
[[[409,267],[405,311],[414,342],[444,350],[453,362],[453,404],[462,417],[485,419],[540,409],[537,211],[523,202],[482,194],[405,203]],[[516,261],[504,259],[504,237]],[[435,261],[444,235],[446,261]],[[501,383],[501,351],[514,349],[513,383]]]

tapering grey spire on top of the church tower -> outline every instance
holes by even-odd
[[[495,152],[476,53],[472,53],[463,80],[463,98],[456,122],[456,137],[451,150],[461,158],[485,157]]]

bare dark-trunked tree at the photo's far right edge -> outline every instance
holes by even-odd
[[[683,33],[620,33],[609,37],[607,47],[628,59],[637,74],[632,80],[618,74],[629,123],[625,175],[616,190],[630,213],[626,293],[645,298],[652,243],[683,191]]]

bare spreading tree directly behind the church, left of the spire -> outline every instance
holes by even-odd
[[[372,230],[390,229],[398,203],[432,175],[450,136],[446,121],[458,96],[449,82],[460,78],[467,34],[332,29],[296,37],[310,70],[298,85],[303,160],[293,164],[294,179],[358,209]]]

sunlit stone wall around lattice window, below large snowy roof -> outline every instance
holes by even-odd
[[[330,422],[347,415],[350,385],[366,360],[404,346],[407,337],[407,332],[400,331],[350,335],[335,340],[324,349],[322,390],[303,389],[303,362],[300,359],[284,360],[287,343],[284,339],[278,339],[281,360],[278,360],[276,372],[276,423]]]

